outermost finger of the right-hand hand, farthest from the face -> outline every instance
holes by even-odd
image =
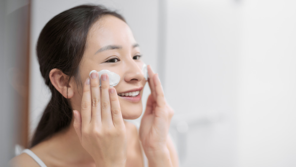
[[[154,86],[155,86],[155,93],[156,93],[156,105],[158,107],[164,107],[165,106],[165,95],[163,93],[163,87],[161,86],[160,79],[158,77],[158,74],[155,74],[153,76]]]

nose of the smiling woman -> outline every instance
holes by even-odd
[[[142,71],[142,67],[140,67],[139,64],[143,65],[143,63],[135,62],[133,59],[126,64],[126,71],[124,75],[124,80],[126,82],[137,82],[144,79],[144,73]]]

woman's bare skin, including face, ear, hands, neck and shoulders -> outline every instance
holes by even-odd
[[[79,67],[83,87],[76,82],[67,85],[65,81],[69,77],[59,69],[50,72],[52,84],[68,97],[74,109],[73,126],[31,150],[48,166],[143,166],[142,147],[149,166],[178,166],[178,155],[168,136],[173,110],[165,101],[158,75],[150,66],[151,95],[139,134],[133,124],[123,120],[138,118],[142,101],[131,102],[117,94],[140,88],[142,96],[147,82],[141,71],[139,47],[128,25],[114,16],[104,16],[91,27],[86,44]],[[107,45],[120,48],[98,52]],[[99,88],[99,77],[96,73],[90,77],[89,72],[102,69],[120,75],[118,85],[110,88],[108,75],[102,74]],[[27,154],[13,158],[10,164],[38,166]]]

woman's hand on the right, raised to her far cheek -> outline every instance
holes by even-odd
[[[167,152],[168,131],[174,112],[165,100],[158,74],[153,73],[149,65],[147,69],[151,94],[141,120],[139,138],[148,157],[155,152]]]

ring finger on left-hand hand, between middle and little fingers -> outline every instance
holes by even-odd
[[[101,75],[101,91],[102,91],[102,123],[113,125],[112,123],[112,114],[111,114],[111,105],[110,105],[110,96],[109,96],[109,77],[106,73]]]

